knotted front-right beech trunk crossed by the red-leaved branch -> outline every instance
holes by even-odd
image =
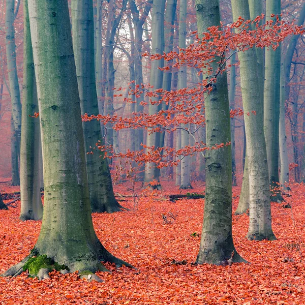
[[[210,26],[220,26],[218,0],[196,0],[198,33]],[[211,63],[213,73],[220,57]],[[230,110],[226,72],[217,77],[205,99],[206,144],[230,142]],[[203,227],[196,263],[228,265],[245,262],[236,252],[232,238],[232,153],[230,146],[206,151],[206,187]]]

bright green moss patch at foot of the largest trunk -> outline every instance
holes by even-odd
[[[54,262],[53,259],[47,257],[46,255],[31,257],[23,266],[23,270],[28,270],[28,273],[32,276],[37,276],[39,270],[44,268],[48,269],[49,272],[52,270],[60,271],[68,269],[67,266],[59,265],[57,262]]]

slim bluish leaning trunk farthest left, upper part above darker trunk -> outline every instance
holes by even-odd
[[[21,102],[20,89],[18,83],[17,65],[16,65],[16,45],[15,45],[15,1],[7,0],[6,2],[6,54],[7,54],[7,68],[9,75],[9,85],[12,102],[12,116],[14,122],[14,130],[16,137],[16,153],[17,158],[20,155],[20,139],[21,139]]]

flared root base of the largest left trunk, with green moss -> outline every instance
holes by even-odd
[[[125,265],[136,269],[131,264],[114,257],[103,247],[101,242],[98,242],[95,251],[93,252],[91,249],[89,255],[62,262],[56,262],[54,258],[48,257],[47,254],[40,253],[34,248],[30,255],[5,271],[1,277],[16,277],[27,270],[30,276],[44,280],[50,278],[49,272],[52,270],[60,271],[62,274],[78,271],[80,278],[102,282],[102,279],[95,275],[95,272],[109,272],[109,270],[101,262],[114,263],[117,267]]]

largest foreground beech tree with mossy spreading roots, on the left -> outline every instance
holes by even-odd
[[[24,267],[44,279],[56,268],[85,271],[83,277],[99,280],[88,274],[105,270],[101,261],[129,264],[112,256],[93,228],[68,1],[29,0],[28,8],[40,110],[44,214],[34,249],[3,276],[20,274]]]

